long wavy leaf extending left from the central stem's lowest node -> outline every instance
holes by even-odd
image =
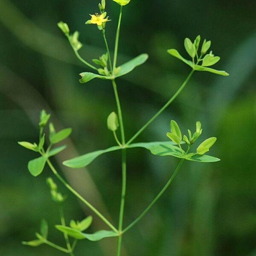
[[[63,233],[66,233],[68,236],[71,236],[79,240],[88,239],[90,241],[99,241],[107,237],[118,236],[118,233],[114,231],[109,231],[109,230],[100,230],[93,234],[87,234],[87,233],[82,233],[81,231],[73,229],[71,227],[66,227],[61,225],[56,225],[55,227],[57,230]]]

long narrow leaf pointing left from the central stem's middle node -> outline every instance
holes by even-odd
[[[66,160],[63,162],[63,164],[64,164],[64,166],[68,166],[70,168],[82,168],[82,167],[85,167],[88,164],[90,164],[96,157],[99,157],[100,155],[105,154],[107,152],[111,152],[111,151],[115,151],[115,150],[119,150],[119,149],[121,149],[121,147],[114,146],[114,147],[107,148],[104,150],[90,152],[90,153],[81,155],[79,157],[75,157],[73,159]]]

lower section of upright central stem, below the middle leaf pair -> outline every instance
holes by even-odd
[[[124,219],[124,209],[125,209],[125,194],[126,194],[126,149],[122,149],[122,194],[121,194],[121,204],[119,212],[119,237],[117,240],[116,256],[121,255],[121,244],[122,244],[122,225]]]

